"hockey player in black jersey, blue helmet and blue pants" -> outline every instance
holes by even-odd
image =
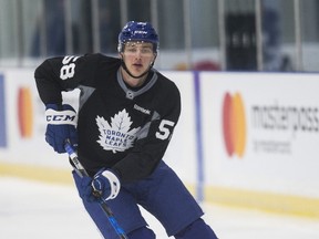
[[[179,117],[181,98],[176,85],[153,69],[156,31],[148,22],[127,22],[117,50],[119,58],[52,58],[35,70],[45,104],[45,141],[58,153],[65,153],[65,139],[76,147],[90,177],[73,172],[74,181],[105,238],[117,237],[93,189],[102,193],[130,239],[155,238],[137,205],[154,215],[168,236],[216,239],[196,200],[162,160]],[[74,89],[81,91],[78,114],[61,96]]]

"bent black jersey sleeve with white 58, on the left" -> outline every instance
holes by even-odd
[[[62,104],[62,91],[72,91],[85,79],[93,79],[97,59],[97,54],[92,54],[45,60],[34,71],[42,102],[44,104]]]

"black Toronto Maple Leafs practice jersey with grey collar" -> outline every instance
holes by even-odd
[[[102,54],[45,60],[34,72],[44,104],[80,89],[79,159],[93,176],[112,168],[122,181],[145,178],[162,159],[181,113],[176,85],[153,70],[138,89],[125,84],[121,60]]]

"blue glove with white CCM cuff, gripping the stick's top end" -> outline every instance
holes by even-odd
[[[58,153],[65,153],[64,144],[69,139],[71,145],[76,148],[76,112],[69,104],[61,106],[48,104],[45,108],[47,132],[45,141]]]

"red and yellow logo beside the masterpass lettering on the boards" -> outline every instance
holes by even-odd
[[[226,93],[223,102],[223,134],[228,156],[243,157],[246,147],[246,117],[239,93]]]

